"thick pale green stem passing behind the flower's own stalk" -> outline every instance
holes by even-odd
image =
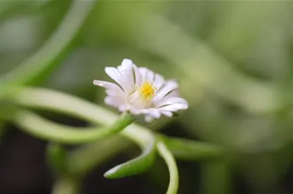
[[[15,95],[10,96],[10,100],[25,107],[58,111],[102,126],[111,126],[119,118],[97,104],[49,89],[18,87]],[[147,128],[136,124],[128,126],[121,134],[142,147],[148,145],[149,140],[153,138],[153,134]]]

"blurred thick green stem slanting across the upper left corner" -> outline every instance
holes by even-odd
[[[67,15],[52,37],[33,56],[16,69],[1,77],[5,81],[17,85],[32,83],[42,78],[47,71],[59,63],[55,63],[71,44],[80,30],[85,18],[90,13],[95,1],[74,1]]]

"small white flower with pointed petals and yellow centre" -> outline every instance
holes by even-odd
[[[162,114],[171,117],[179,109],[187,109],[188,103],[179,97],[178,83],[167,80],[148,68],[138,68],[130,59],[124,59],[117,68],[106,67],[104,71],[117,84],[94,80],[93,84],[104,87],[104,102],[119,111],[144,114],[145,121],[153,121]]]

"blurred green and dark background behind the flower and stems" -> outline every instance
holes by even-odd
[[[86,18],[73,28],[80,17]],[[179,193],[292,193],[292,18],[291,1],[83,1],[76,8],[73,1],[1,1],[0,75],[32,60],[61,30],[37,61],[41,66],[56,51],[54,65],[30,85],[105,107],[104,90],[92,80],[109,80],[104,67],[118,66],[124,58],[179,81],[190,108],[177,119],[141,124],[229,151],[221,159],[178,159]],[[63,24],[66,29],[59,28]],[[50,193],[55,179],[44,160],[47,143],[13,125],[2,131],[0,193]],[[105,153],[114,149],[103,146]],[[81,193],[165,192],[168,172],[161,160],[139,176],[103,178],[111,166],[139,153],[135,146],[115,149],[83,180]]]

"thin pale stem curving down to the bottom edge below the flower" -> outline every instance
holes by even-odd
[[[176,194],[179,185],[179,175],[175,159],[165,143],[161,140],[157,142],[157,152],[159,152],[160,156],[165,160],[169,169],[170,180],[167,194]]]

